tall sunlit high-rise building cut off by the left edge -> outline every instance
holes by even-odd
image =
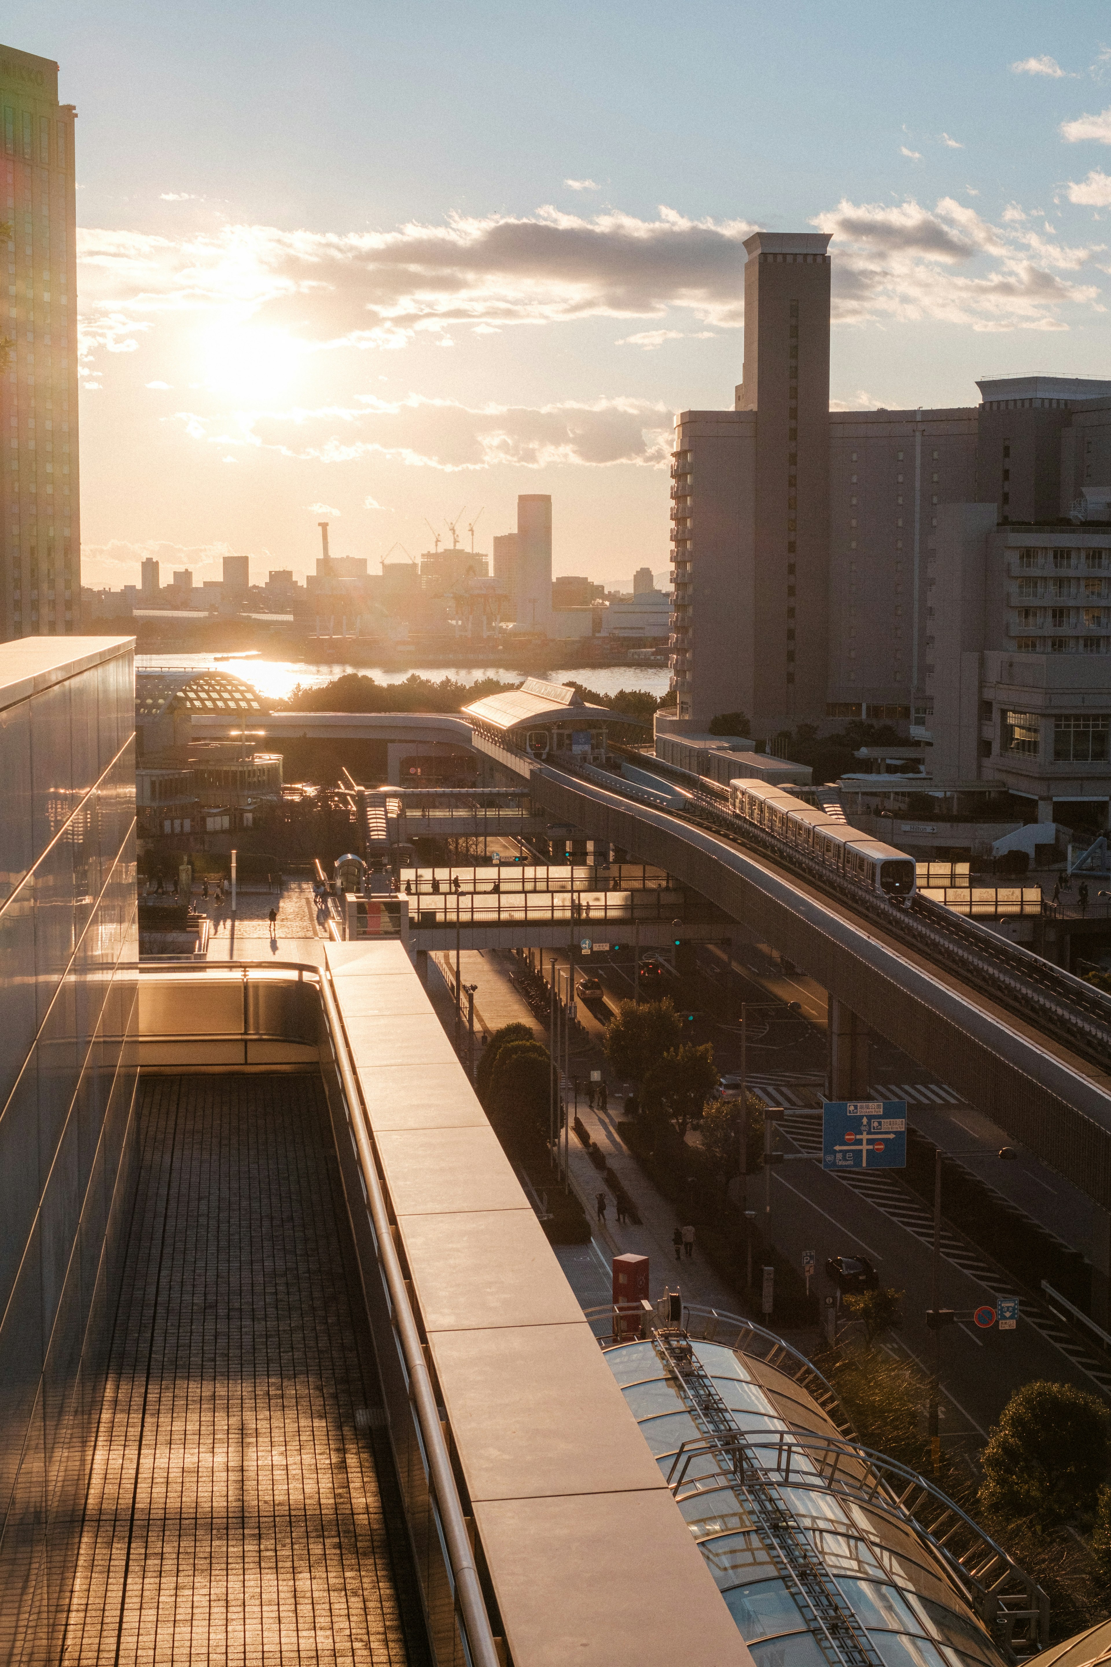
[[[0,333],[0,637],[80,630],[73,105],[58,65],[0,47],[8,308]]]

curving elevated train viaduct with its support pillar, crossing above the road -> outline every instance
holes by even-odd
[[[195,718],[193,728],[235,733],[227,718]],[[911,919],[868,894],[831,895],[828,877],[791,872],[773,849],[738,844],[713,818],[695,825],[668,808],[663,785],[655,792],[593,768],[536,763],[461,717],[278,713],[252,733],[275,745],[283,735],[423,737],[473,748],[501,780],[528,782],[550,820],[666,869],[806,969],[830,995],[834,1097],[868,1092],[858,1037],[869,1027],[1111,1212],[1111,1000],[1081,980],[946,910]],[[445,924],[436,929],[440,947]],[[1108,1249],[1111,1260],[1111,1240]]]

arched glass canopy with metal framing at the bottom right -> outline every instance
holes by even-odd
[[[1039,1589],[931,1484],[848,1442],[796,1377],[678,1330],[605,1357],[758,1667],[1036,1652]]]

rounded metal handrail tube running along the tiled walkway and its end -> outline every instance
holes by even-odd
[[[142,962],[132,965],[138,967],[140,972],[143,970]],[[188,969],[195,964],[192,964],[188,957],[183,957],[183,965]],[[375,1239],[378,1242],[378,1259],[386,1282],[393,1324],[396,1325],[401,1342],[410,1399],[416,1409],[421,1444],[428,1460],[431,1492],[440,1512],[448,1562],[455,1577],[460,1609],[463,1612],[470,1659],[475,1667],[500,1667],[498,1650],[493,1642],[493,1629],[490,1625],[490,1615],[486,1612],[486,1602],[478,1579],[478,1567],[475,1554],[471,1552],[470,1535],[466,1532],[463,1504],[455,1485],[451,1460],[448,1457],[448,1447],[440,1424],[440,1414],[436,1410],[436,1397],[431,1389],[431,1377],[428,1374],[428,1365],[420,1342],[416,1317],[413,1314],[408,1290],[405,1289],[405,1274],[401,1272],[401,1262],[390,1230],[390,1215],[368,1132],[366,1107],[351,1065],[350,1044],[346,1030],[343,1029],[343,1019],[340,1015],[336,997],[331,989],[331,975],[326,967],[318,967],[315,962],[296,960],[262,964],[250,960],[222,960],[215,965],[208,962],[205,965],[205,974],[220,974],[225,969],[238,970],[245,974],[245,977],[250,977],[252,972],[273,972],[275,969],[280,969],[283,972],[296,972],[298,982],[301,982],[305,974],[308,974],[320,987],[328,1034],[333,1042],[336,1069],[343,1084],[345,1099],[351,1110],[351,1129],[355,1132],[360,1170],[366,1185],[366,1202],[375,1229]]]

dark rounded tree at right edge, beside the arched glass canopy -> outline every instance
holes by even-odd
[[[983,1452],[979,1502],[993,1517],[1066,1522],[1096,1509],[1111,1442],[1108,1410],[1071,1384],[1023,1384]]]

